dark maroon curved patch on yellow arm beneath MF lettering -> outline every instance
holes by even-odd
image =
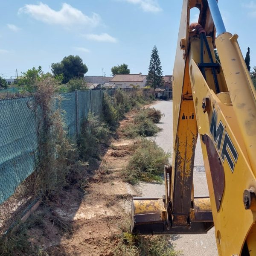
[[[215,203],[218,211],[221,207],[221,201],[225,186],[224,168],[221,163],[218,152],[215,148],[215,145],[207,134],[204,135],[204,143],[206,145],[207,155],[209,159],[210,172],[212,176],[212,185],[215,195]]]

